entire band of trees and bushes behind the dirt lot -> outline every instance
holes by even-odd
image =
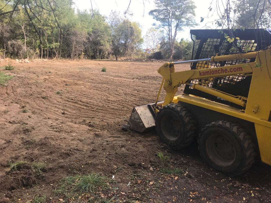
[[[2,0],[0,58],[117,60],[121,56],[190,59],[193,42],[186,39],[179,41],[176,35],[184,27],[197,25],[194,2],[154,2],[156,8],[149,15],[159,24],[154,24],[142,37],[139,23],[131,22],[116,11],[103,16],[95,9],[75,10],[73,0]],[[217,28],[269,27],[269,1],[237,2],[234,8],[228,5],[230,9],[222,11],[220,20],[215,23]],[[201,22],[203,20],[201,17]]]

